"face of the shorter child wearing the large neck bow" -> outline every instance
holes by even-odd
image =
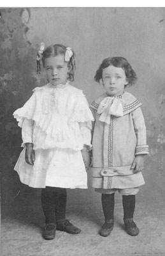
[[[108,66],[103,69],[103,86],[108,95],[120,95],[128,84],[125,71],[122,68]]]

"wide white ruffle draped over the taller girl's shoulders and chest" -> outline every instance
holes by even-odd
[[[35,126],[39,127],[47,136],[57,141],[71,138],[73,131],[75,134],[78,134],[80,131],[78,122],[86,122],[87,127],[92,129],[91,121],[94,118],[82,94],[75,95],[75,102],[73,102],[75,108],[71,108],[71,111],[66,111],[66,113],[61,109],[58,111],[58,109],[49,108],[49,111],[45,111],[43,108],[45,99],[47,98],[45,98],[43,90],[36,88],[32,97],[25,105],[13,113],[14,118],[17,119],[18,126],[22,127],[24,118],[34,120]]]

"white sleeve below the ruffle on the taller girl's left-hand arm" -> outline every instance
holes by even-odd
[[[32,130],[34,121],[32,119],[24,118],[22,121],[22,145],[25,147],[25,143],[32,143]]]

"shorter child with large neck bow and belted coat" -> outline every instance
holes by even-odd
[[[91,104],[95,118],[92,138],[92,187],[102,193],[104,225],[100,236],[109,236],[114,224],[114,195],[122,195],[124,224],[131,236],[139,229],[133,221],[135,195],[145,184],[141,171],[148,154],[141,102],[124,92],[137,77],[125,58],[106,58],[96,76],[106,91]]]

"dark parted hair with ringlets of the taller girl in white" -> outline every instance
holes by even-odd
[[[76,63],[75,63],[75,52],[73,49],[71,49],[73,52],[73,56],[71,56],[70,60],[68,61],[68,67],[70,67],[70,70],[68,72],[68,79],[69,81],[74,81],[75,77],[75,69],[76,69]],[[48,46],[42,53],[42,61],[43,61],[43,67],[45,66],[45,59],[50,57],[55,57],[57,55],[61,55],[66,53],[66,46],[62,44],[54,44]]]

